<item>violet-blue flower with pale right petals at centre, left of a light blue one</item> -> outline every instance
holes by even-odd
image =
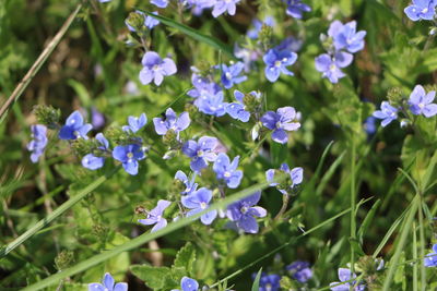
[[[191,158],[190,168],[196,172],[200,172],[208,166],[209,161],[216,159],[214,148],[217,146],[217,138],[202,136],[198,142],[188,141],[182,146],[182,153]]]

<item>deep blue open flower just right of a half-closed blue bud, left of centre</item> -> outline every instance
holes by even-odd
[[[145,158],[144,150],[137,144],[116,146],[113,157],[122,162],[122,167],[130,174],[138,174],[138,161]]]

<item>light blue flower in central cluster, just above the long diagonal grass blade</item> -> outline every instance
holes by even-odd
[[[241,182],[243,171],[237,170],[239,156],[236,156],[231,162],[229,157],[225,153],[220,153],[214,161],[213,170],[217,180],[223,180],[231,189],[238,187]]]

